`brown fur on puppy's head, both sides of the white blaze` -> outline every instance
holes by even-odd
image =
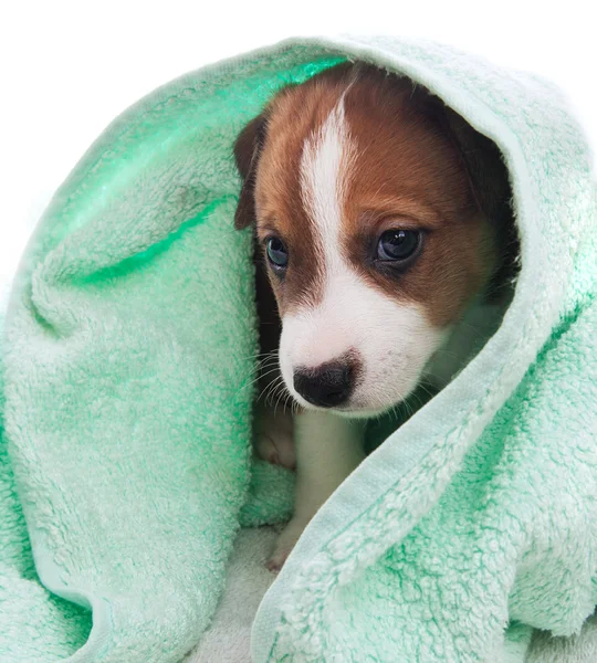
[[[237,144],[238,152],[251,154],[237,218],[251,219],[252,210],[262,245],[275,235],[289,249],[284,277],[270,274],[281,314],[315,304],[325,259],[305,209],[301,159],[343,94],[354,157],[341,172],[345,196],[334,250],[387,296],[421,305],[433,326],[449,325],[494,271],[496,219],[510,209],[507,178],[495,146],[410,80],[343,64],[279,93],[265,130],[263,122],[255,125],[261,136],[248,139],[258,135],[253,126]],[[374,260],[389,229],[422,232],[422,251],[404,272],[380,270]]]

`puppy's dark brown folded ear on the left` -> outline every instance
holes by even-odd
[[[242,230],[255,221],[255,173],[265,140],[266,116],[258,115],[239,134],[234,143],[234,159],[242,178],[239,204],[234,214],[234,228]]]

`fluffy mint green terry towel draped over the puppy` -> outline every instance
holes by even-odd
[[[597,602],[590,155],[559,92],[453,49],[301,39],[117,118],[41,219],[4,339],[0,661],[180,660],[240,525],[287,516],[252,463],[250,232],[232,145],[344,59],[427,86],[495,141],[521,270],[502,325],[327,501],[258,611],[256,662],[523,661]]]

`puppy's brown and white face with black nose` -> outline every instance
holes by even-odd
[[[304,407],[369,415],[417,386],[494,267],[453,117],[410,81],[341,65],[285,88],[235,146]],[[473,178],[474,179],[474,178]]]

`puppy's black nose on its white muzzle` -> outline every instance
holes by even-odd
[[[310,403],[334,408],[348,400],[354,387],[354,366],[349,361],[329,361],[316,368],[298,367],[294,388]]]

